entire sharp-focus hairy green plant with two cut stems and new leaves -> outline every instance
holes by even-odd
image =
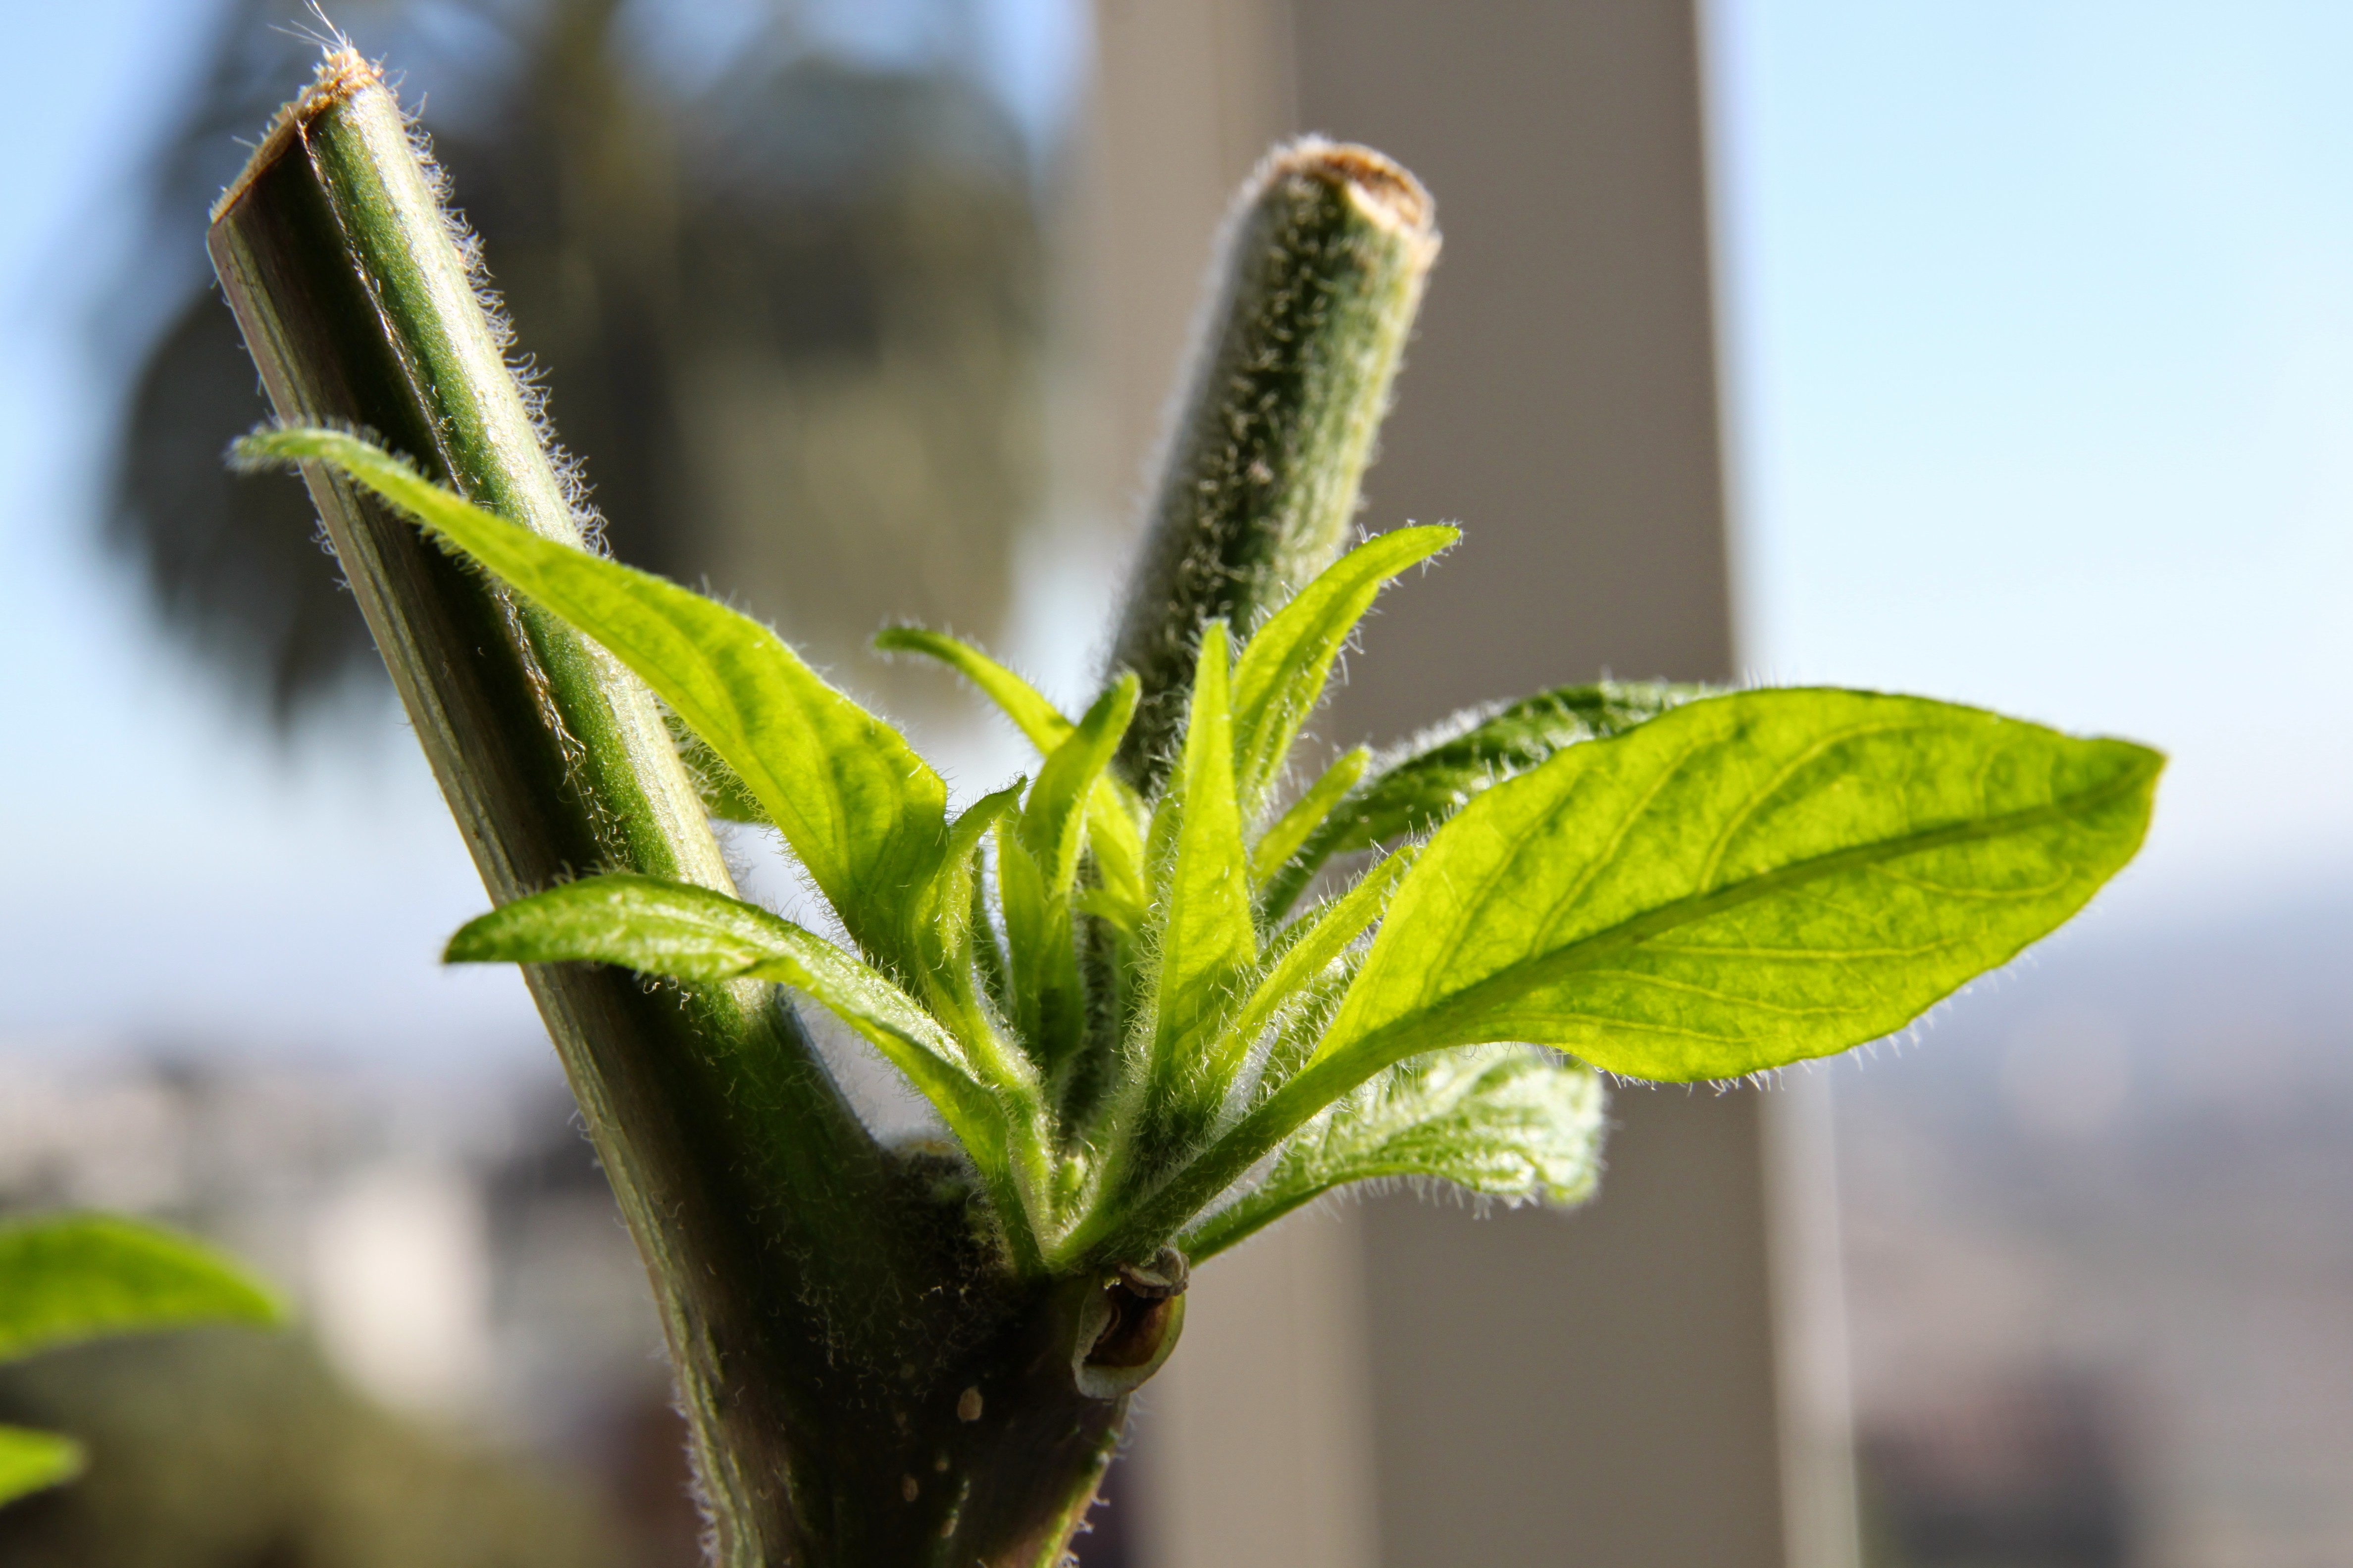
[[[1906,696],[1598,684],[1299,766],[1435,256],[1306,141],[1242,190],[1115,656],[1080,715],[953,637],[1035,769],[941,776],[769,628],[593,545],[480,261],[336,52],[212,256],[645,1251],[727,1568],[1061,1561],[1188,1269],[1346,1182],[1593,1190],[1602,1077],[1904,1027],[2132,858],[2160,759]],[[369,435],[372,433],[372,435]],[[1529,628],[1541,635],[1541,628]],[[772,827],[833,931],[744,900]],[[936,1112],[885,1145],[795,1006]]]

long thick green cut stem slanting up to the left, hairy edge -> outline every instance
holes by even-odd
[[[278,118],[209,249],[280,418],[374,428],[473,501],[581,541],[365,61],[332,56]],[[365,491],[304,477],[496,900],[591,870],[732,891],[635,679]],[[1059,1363],[1038,1349],[1068,1309],[981,1251],[953,1168],[873,1143],[788,1009],[588,964],[527,978],[652,1272],[722,1563],[896,1563],[944,1540],[1012,1561],[1007,1540],[1092,1495],[1120,1403],[1078,1394],[1068,1342]],[[960,1415],[967,1387],[988,1420]],[[901,1500],[918,1462],[920,1505]]]

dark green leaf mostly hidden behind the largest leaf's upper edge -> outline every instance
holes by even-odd
[[[1600,682],[1454,715],[1377,757],[1365,783],[1301,849],[1280,870],[1261,872],[1266,914],[1282,914],[1332,856],[1428,832],[1480,790],[1539,766],[1560,748],[1626,733],[1697,696],[1706,696],[1706,686]]]

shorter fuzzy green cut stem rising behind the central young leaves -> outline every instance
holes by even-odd
[[[1249,635],[1348,541],[1438,259],[1433,205],[1379,153],[1306,139],[1259,165],[1224,256],[1111,656],[1144,679],[1120,769],[1146,790],[1184,722],[1200,628]]]

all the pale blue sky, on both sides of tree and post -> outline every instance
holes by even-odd
[[[431,961],[482,893],[398,719],[273,750],[94,543],[92,284],[200,26],[5,24],[0,1048],[539,1060]],[[2108,929],[2341,900],[2353,7],[1718,0],[1711,56],[1753,672],[2169,748]]]

